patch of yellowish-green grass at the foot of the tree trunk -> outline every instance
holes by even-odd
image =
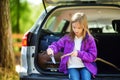
[[[19,80],[19,75],[9,69],[0,68],[0,80]]]

